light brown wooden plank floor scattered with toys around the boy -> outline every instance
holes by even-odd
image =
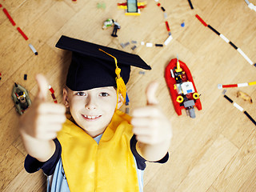
[[[97,3],[103,2],[106,9],[97,8]],[[161,84],[157,96],[170,118],[174,138],[166,164],[148,163],[145,192],[256,191],[256,126],[217,88],[218,83],[256,81],[256,68],[195,17],[198,14],[255,62],[256,12],[243,0],[193,0],[194,10],[186,0],[159,0],[174,39],[164,47],[146,47],[141,42],[163,43],[168,37],[161,6],[148,1],[142,14],[135,17],[125,16],[117,2],[0,0],[0,191],[46,190],[41,171],[27,174],[23,168],[26,151],[18,134],[19,115],[10,94],[14,82],[18,82],[30,91],[33,101],[38,89],[34,76],[42,73],[54,88],[58,102],[62,101],[70,62],[70,53],[54,47],[62,34],[138,54],[152,66],[145,74],[132,69],[127,85],[130,111],[146,104],[146,85],[157,80]],[[256,4],[254,0],[250,2]],[[4,8],[16,26],[2,11]],[[107,18],[114,18],[121,25],[118,38],[110,36],[112,28],[102,30]],[[27,41],[17,27],[29,38]],[[120,43],[126,42],[130,45],[122,48]],[[38,56],[30,50],[29,43],[38,50]],[[134,45],[137,48],[131,50]],[[195,119],[187,117],[185,111],[182,116],[175,113],[166,86],[165,67],[177,54],[189,66],[198,93],[202,94],[202,110],[195,110]],[[24,74],[27,80],[23,79]],[[238,90],[249,94],[253,103],[237,98]],[[256,118],[256,86],[230,88],[226,95]],[[49,99],[52,101],[50,92]]]

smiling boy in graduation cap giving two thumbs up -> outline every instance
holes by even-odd
[[[172,138],[154,97],[158,85],[150,84],[148,105],[134,110],[132,118],[118,109],[130,65],[150,66],[138,55],[66,36],[56,46],[73,51],[64,105],[46,102],[48,84],[38,74],[38,95],[21,117],[26,170],[42,169],[49,176],[47,191],[142,192],[145,162],[166,162]]]

